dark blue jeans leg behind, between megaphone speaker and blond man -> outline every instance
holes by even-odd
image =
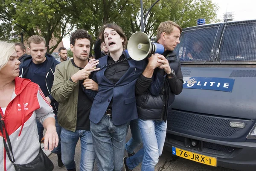
[[[127,153],[132,154],[134,149],[142,143],[142,138],[140,134],[140,128],[138,125],[138,119],[134,119],[130,122],[131,129],[131,139],[125,144],[125,150]]]

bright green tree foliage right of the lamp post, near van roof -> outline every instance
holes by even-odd
[[[143,0],[143,18],[155,0]],[[137,7],[138,8],[138,7]],[[208,23],[216,22],[218,6],[211,0],[160,0],[149,12],[144,32],[152,38],[156,35],[159,24],[172,20],[182,28],[195,26],[198,18],[205,18]],[[135,17],[136,16],[136,19]],[[131,16],[131,28],[140,28],[140,12]]]

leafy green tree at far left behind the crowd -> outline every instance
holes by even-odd
[[[5,23],[12,23],[26,33],[26,38],[41,35],[46,46],[54,38],[55,46],[73,29],[73,7],[69,0],[1,0],[0,17]]]

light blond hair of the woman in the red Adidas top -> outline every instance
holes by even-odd
[[[0,49],[2,49],[2,52],[0,53],[0,70],[1,70],[4,66],[6,66],[10,56],[12,56],[12,54],[16,51],[15,51],[15,44],[8,43],[6,41],[0,41]]]

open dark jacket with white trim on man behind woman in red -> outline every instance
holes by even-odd
[[[47,68],[46,68],[47,75],[46,75],[45,82],[46,82],[47,90],[49,92],[48,97],[49,99],[51,99],[51,105],[54,113],[58,114],[58,102],[52,97],[51,90],[52,90],[52,84],[54,80],[55,67],[57,64],[59,64],[59,62],[56,61],[52,55],[46,54],[45,56],[47,58]],[[31,55],[28,55],[24,59],[23,63],[20,64],[20,78],[26,78],[31,62],[32,62],[32,57]]]

